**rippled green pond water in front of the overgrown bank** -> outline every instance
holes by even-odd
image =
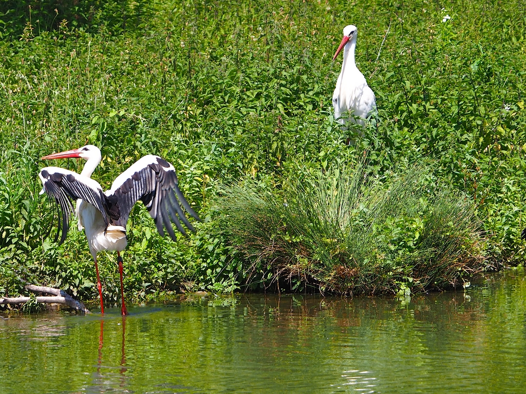
[[[526,392],[526,279],[398,300],[187,298],[0,318],[0,393]]]

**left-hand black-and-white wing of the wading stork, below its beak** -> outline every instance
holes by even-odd
[[[83,177],[76,172],[59,167],[45,167],[38,174],[44,186],[41,194],[46,192],[49,199],[55,200],[58,212],[58,230],[55,242],[62,229],[60,242],[66,239],[71,213],[74,212],[72,200],[82,199],[92,204],[102,213],[106,226],[108,216],[105,209],[105,195],[98,182]]]

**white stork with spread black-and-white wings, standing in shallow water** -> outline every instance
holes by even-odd
[[[186,235],[180,222],[190,231],[194,227],[188,222],[183,208],[195,219],[199,216],[190,208],[177,185],[177,175],[174,166],[155,155],[147,155],[120,174],[112,184],[112,188],[103,192],[100,184],[91,175],[102,156],[100,150],[93,145],[49,154],[42,160],[83,158],[86,160],[80,174],[59,167],[45,167],[38,174],[42,180],[44,192],[57,204],[58,230],[55,241],[66,239],[69,229],[70,213],[73,212],[72,200],[77,200],[75,214],[78,217],[78,229],[86,233],[89,251],[92,253],[97,274],[97,288],[100,296],[100,310],[104,314],[102,285],[97,266],[97,253],[100,251],[116,251],[120,274],[120,295],[122,297],[121,313],[127,314],[124,303],[123,260],[120,252],[126,247],[126,223],[134,204],[140,200],[146,205],[151,217],[155,220],[157,231],[164,235],[164,227],[171,239],[176,241],[172,223]],[[183,208],[181,208],[181,205]]]

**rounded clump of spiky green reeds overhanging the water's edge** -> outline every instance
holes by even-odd
[[[337,294],[420,293],[482,271],[480,220],[465,196],[429,188],[429,168],[382,177],[365,165],[245,182],[218,200],[245,284]]]

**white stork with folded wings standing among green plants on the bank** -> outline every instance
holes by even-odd
[[[343,130],[347,130],[345,125],[348,122],[364,126],[365,119],[376,109],[375,94],[367,85],[363,74],[356,67],[355,49],[357,34],[355,25],[346,26],[343,29],[341,44],[332,58],[332,60],[335,60],[343,49],[341,72],[332,95],[334,118],[344,126]],[[348,118],[345,117],[346,112],[348,113]],[[355,117],[362,119],[356,119]]]

